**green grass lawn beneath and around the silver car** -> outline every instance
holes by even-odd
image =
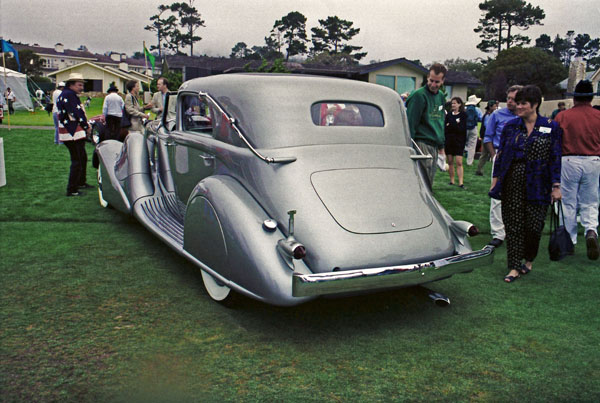
[[[598,262],[495,263],[421,287],[294,308],[214,303],[198,270],[134,219],[66,198],[51,130],[0,129],[2,401],[598,401]],[[91,147],[88,152],[91,155]],[[489,174],[490,165],[486,167]],[[88,169],[94,183],[95,170]],[[435,193],[489,240],[489,177]]]

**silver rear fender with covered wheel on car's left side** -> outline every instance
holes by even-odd
[[[279,226],[268,231],[270,217],[239,182],[228,176],[201,181],[188,201],[184,250],[205,263],[238,292],[275,305],[295,305],[292,276],[311,273],[302,260],[291,270],[277,252],[284,239]]]

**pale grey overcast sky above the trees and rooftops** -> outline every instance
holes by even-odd
[[[170,0],[0,0],[0,36],[16,42],[67,49],[86,45],[95,53],[133,54],[156,44],[144,30],[160,4]],[[229,56],[237,42],[264,45],[276,19],[299,11],[307,31],[319,19],[336,15],[354,22],[360,33],[353,45],[368,52],[363,62],[398,57],[423,63],[449,58],[485,57],[473,32],[481,17],[481,0],[195,0],[206,22],[197,33],[203,39],[195,54]],[[568,30],[600,37],[600,0],[531,0],[546,13],[543,26],[525,31],[535,39],[542,33],[564,36]],[[188,50],[189,52],[189,50]]]

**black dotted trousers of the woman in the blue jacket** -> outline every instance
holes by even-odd
[[[525,163],[515,162],[502,185],[502,221],[506,230],[508,269],[518,269],[523,260],[533,262],[548,210],[547,204],[532,204],[526,199]]]

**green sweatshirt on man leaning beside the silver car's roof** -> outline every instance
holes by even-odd
[[[406,100],[406,114],[410,126],[410,136],[437,148],[443,148],[444,104],[446,95],[440,90],[432,94],[427,87],[421,87]]]

